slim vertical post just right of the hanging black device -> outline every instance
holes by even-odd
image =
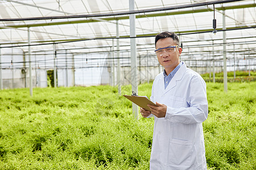
[[[226,16],[225,16],[225,10],[222,11],[222,25],[223,29],[226,29]],[[224,76],[224,91],[228,92],[228,74],[226,72],[226,31],[223,31],[223,76]]]

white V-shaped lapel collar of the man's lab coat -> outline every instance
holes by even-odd
[[[187,69],[187,66],[183,62],[183,64],[181,65],[180,69],[177,70],[177,73],[171,79],[171,82],[168,84],[168,86],[166,87],[165,90],[164,90],[164,75],[162,74],[162,76],[160,78],[160,82],[162,82],[161,83],[161,89],[163,90],[162,94],[166,94],[169,90],[171,90],[172,88],[174,88],[176,86],[176,81],[181,80],[181,78],[183,77],[186,69]]]

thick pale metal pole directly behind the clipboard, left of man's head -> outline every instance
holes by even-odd
[[[129,10],[134,11],[134,0],[129,0]],[[130,14],[130,37],[135,37],[135,15]],[[136,41],[130,39],[131,43],[131,90],[138,94],[137,84],[137,56],[136,56]],[[133,114],[135,119],[138,119],[138,105],[133,103]]]

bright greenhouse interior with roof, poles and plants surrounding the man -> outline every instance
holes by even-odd
[[[150,97],[164,31],[207,82],[208,169],[256,168],[254,0],[2,0],[0,16],[0,169],[149,169],[154,119],[122,95]]]

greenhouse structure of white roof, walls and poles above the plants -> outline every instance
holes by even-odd
[[[157,33],[177,33],[200,74],[256,68],[255,1],[0,1],[0,86],[121,86],[159,74]],[[216,28],[213,19],[217,21]],[[234,74],[236,78],[236,74]],[[225,82],[224,82],[225,83]],[[224,87],[226,88],[226,87]],[[119,87],[121,90],[121,87]]]

